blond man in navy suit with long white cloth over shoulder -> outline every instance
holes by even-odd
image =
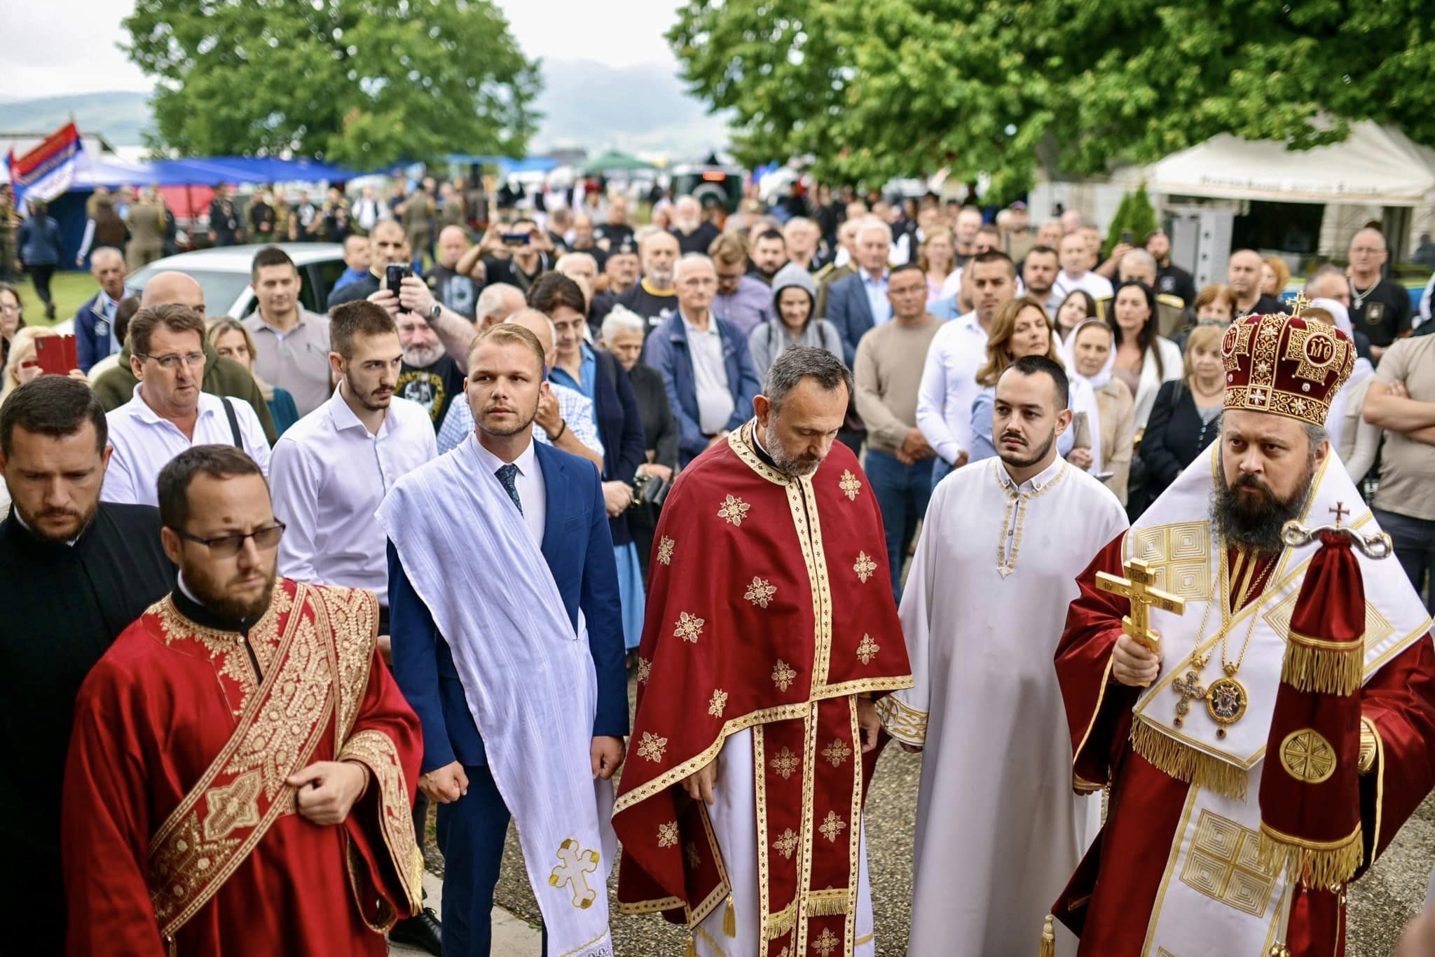
[[[439,805],[449,957],[489,953],[509,816],[547,953],[613,954],[608,782],[629,729],[617,565],[597,469],[534,440],[544,362],[518,323],[479,333],[475,429],[379,508],[393,669],[423,722],[419,788]]]

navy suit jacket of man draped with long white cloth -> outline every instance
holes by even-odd
[[[588,627],[588,650],[598,676],[593,736],[621,737],[629,732],[623,614],[598,471],[590,462],[548,445],[534,445],[534,452],[542,469],[548,506],[542,557],[558,584],[568,620],[577,628],[581,608]],[[455,588],[461,585],[453,583]],[[393,677],[423,723],[420,772],[428,773],[455,760],[464,765],[488,763],[484,739],[464,700],[453,654],[428,605],[413,591],[393,542],[389,542],[389,633],[393,640]],[[512,680],[537,677],[514,674]]]

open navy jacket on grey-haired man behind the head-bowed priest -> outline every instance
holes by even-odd
[[[758,369],[752,364],[748,337],[726,319],[710,317],[718,324],[722,337],[722,354],[728,367],[728,389],[732,392],[732,418],[723,426],[732,432],[752,418],[752,400],[762,392]],[[653,330],[643,347],[643,362],[663,373],[667,389],[667,405],[677,418],[677,463],[687,465],[703,453],[707,439],[697,425],[697,379],[693,373],[693,356],[687,350],[687,333],[683,330],[682,313]]]

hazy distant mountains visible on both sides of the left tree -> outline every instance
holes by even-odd
[[[728,145],[726,122],[709,116],[664,66],[611,67],[593,60],[542,65],[544,92],[534,103],[544,119],[532,151],[583,146],[696,156]],[[0,100],[0,132],[43,133],[69,122],[110,146],[136,146],[149,126],[148,93],[82,93]]]

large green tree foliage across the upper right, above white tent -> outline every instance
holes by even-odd
[[[1007,198],[1223,132],[1302,149],[1375,119],[1435,145],[1431,24],[1428,0],[687,0],[667,37],[749,164],[949,166]]]

